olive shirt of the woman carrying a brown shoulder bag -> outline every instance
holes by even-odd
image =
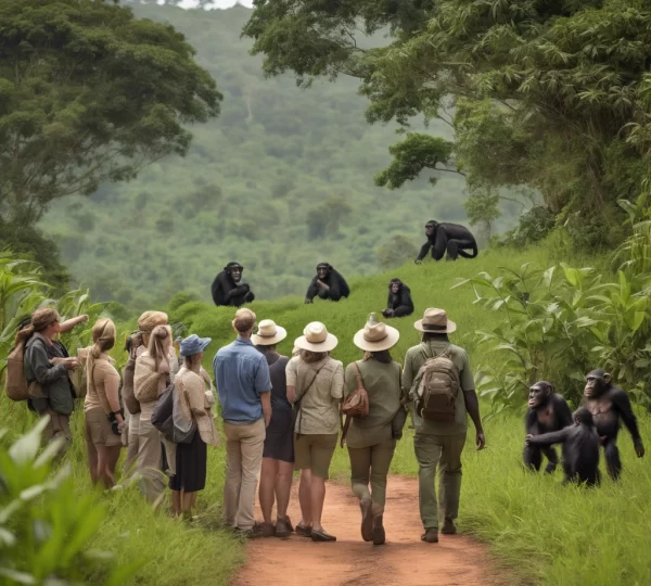
[[[353,418],[346,444],[362,448],[382,444],[392,438],[391,422],[400,408],[400,365],[378,360],[359,360],[346,368],[346,396],[357,388],[357,365],[363,387],[369,395],[369,415]]]

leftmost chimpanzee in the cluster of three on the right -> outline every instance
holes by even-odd
[[[553,384],[538,381],[529,388],[529,409],[524,418],[527,435],[557,432],[572,425],[572,411],[565,399],[556,392]],[[540,470],[542,454],[547,456],[545,472],[552,473],[559,463],[556,449],[552,447],[537,447],[526,444],[524,446],[524,466],[533,470]]]

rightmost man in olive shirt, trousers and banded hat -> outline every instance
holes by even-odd
[[[448,340],[448,333],[454,332],[457,324],[448,320],[444,309],[430,308],[425,310],[423,319],[414,323],[414,328],[423,332],[422,342],[409,348],[405,356],[403,394],[409,404],[416,428],[413,448],[419,463],[419,506],[425,528],[421,539],[437,543],[439,520],[443,520],[443,534],[457,533],[455,519],[459,513],[461,451],[468,430],[467,415],[471,417],[475,426],[477,449],[483,449],[486,441],[468,354]],[[416,412],[422,378],[421,367],[430,358],[446,352],[459,373],[460,388],[456,399],[455,420],[442,422],[423,419]],[[437,467],[441,469],[438,501],[434,486]]]

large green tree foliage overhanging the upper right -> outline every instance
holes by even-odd
[[[621,221],[616,200],[640,190],[651,145],[646,4],[256,0],[255,7],[243,34],[254,39],[254,53],[264,53],[267,75],[292,71],[303,86],[319,76],[356,76],[370,99],[369,122],[408,126],[420,114],[454,128],[457,170],[468,176],[471,193],[533,188],[554,213],[576,218],[570,226],[584,233],[579,240],[612,244],[618,232],[611,227]],[[391,44],[369,46],[365,35],[381,29],[390,30]],[[412,152],[408,169],[441,161],[441,142],[429,138],[431,148]],[[390,187],[392,167],[379,177]]]

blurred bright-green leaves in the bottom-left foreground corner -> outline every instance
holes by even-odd
[[[9,447],[0,443],[0,576],[5,584],[73,586],[100,570],[98,584],[124,584],[140,564],[119,565],[112,552],[89,547],[106,507],[92,493],[77,498],[69,463],[53,473],[61,446],[39,450],[46,423]]]

